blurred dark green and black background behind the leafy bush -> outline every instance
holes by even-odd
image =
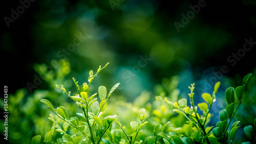
[[[23,11],[19,6],[27,8]],[[73,77],[82,84],[91,69],[107,62],[92,91],[99,85],[110,90],[119,82],[114,97],[125,103],[133,104],[145,93],[147,102],[161,94],[172,98],[173,89],[179,91],[176,97],[186,98],[190,83],[198,87],[198,103],[201,93],[211,93],[212,86],[221,81],[212,125],[226,106],[222,101],[225,89],[240,85],[252,73],[248,99],[236,117],[243,119],[241,126],[251,125],[256,117],[255,8],[253,0],[2,1],[1,76],[10,95],[9,142],[27,143],[36,134],[44,135],[51,122],[40,99],[72,105],[55,84],[74,91]],[[15,15],[12,9],[20,13]],[[246,46],[251,47],[248,51],[243,50],[245,39],[252,41]],[[227,73],[220,72],[223,66]],[[172,78],[177,78],[177,86],[164,88]],[[3,104],[1,99],[1,109]],[[144,104],[137,104],[138,109]],[[70,111],[75,113],[76,108],[70,106]]]

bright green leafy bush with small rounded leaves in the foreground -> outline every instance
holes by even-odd
[[[108,64],[106,64],[108,65]],[[124,113],[126,119],[125,125],[118,121],[121,115],[120,111],[113,111],[112,104],[108,105],[111,94],[117,89],[119,83],[114,85],[109,92],[105,86],[98,87],[98,93],[89,94],[89,88],[98,75],[98,73],[106,67],[98,68],[94,75],[91,70],[89,73],[88,84],[83,83],[80,88],[78,82],[73,78],[73,82],[77,91],[76,94],[71,94],[62,85],[56,87],[63,93],[66,93],[72,101],[74,101],[80,110],[76,111],[77,116],[70,116],[69,109],[63,106],[54,108],[50,101],[41,99],[50,110],[55,113],[50,114],[50,121],[53,122],[52,128],[45,134],[45,143],[231,143],[236,136],[239,121],[234,122],[232,125],[232,118],[239,109],[242,100],[244,89],[248,83],[251,74],[244,77],[242,86],[236,88],[229,87],[225,92],[225,98],[228,103],[226,109],[220,111],[220,120],[216,127],[208,126],[211,118],[210,109],[212,104],[216,101],[216,93],[220,87],[220,82],[217,82],[212,94],[203,93],[202,98],[206,103],[194,103],[194,89],[195,84],[189,86],[190,93],[189,102],[187,99],[180,99],[177,102],[179,92],[175,90],[175,83],[173,88],[167,88],[169,93],[176,94],[176,97],[168,101],[169,98],[162,96],[156,97],[157,101],[148,104],[148,95],[146,92],[137,98],[137,107],[117,101],[115,105],[123,104],[123,107],[129,107],[129,111]],[[172,86],[172,82],[168,83]],[[98,94],[97,98],[96,95]],[[75,95],[75,96],[72,96]],[[90,96],[89,96],[90,95]],[[236,97],[235,97],[236,96]],[[144,101],[143,101],[144,99]],[[136,106],[135,101],[135,106]],[[142,105],[140,104],[142,103]],[[163,105],[165,103],[165,105]],[[145,104],[145,105],[143,105]],[[115,106],[114,105],[114,106]],[[169,107],[167,107],[167,105]],[[142,108],[144,106],[144,108]],[[158,107],[160,106],[160,107]],[[139,108],[140,107],[140,108]],[[200,112],[198,108],[202,111]],[[106,110],[106,111],[104,111]],[[149,110],[149,111],[148,111]],[[136,111],[136,112],[134,112]],[[175,115],[172,111],[179,113]],[[158,118],[152,119],[148,115],[158,115]],[[202,113],[202,114],[201,114]],[[200,115],[201,114],[201,115]],[[121,117],[121,118],[122,118]],[[169,119],[177,118],[177,124],[169,122]],[[152,121],[148,123],[147,121]],[[167,121],[167,122],[166,122]],[[156,124],[158,122],[159,124]],[[130,123],[127,125],[127,123]],[[255,127],[256,119],[254,120],[254,130],[252,126],[244,127],[244,132],[248,137],[248,142],[255,143]],[[149,125],[151,128],[147,130]],[[175,129],[177,126],[179,129]],[[230,128],[231,126],[231,128]],[[212,129],[213,128],[213,129]],[[143,130],[146,129],[144,132]],[[153,133],[153,135],[151,134]],[[143,135],[140,137],[140,135]],[[32,143],[40,143],[41,136],[36,135],[32,138]]]

